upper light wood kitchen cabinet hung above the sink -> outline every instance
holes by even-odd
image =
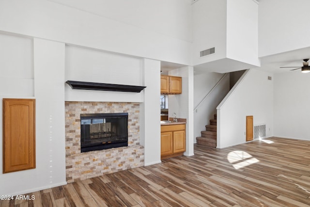
[[[182,94],[182,77],[160,76],[161,94]]]

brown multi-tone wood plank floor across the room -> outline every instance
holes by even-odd
[[[26,194],[0,207],[308,207],[310,142],[270,138]]]

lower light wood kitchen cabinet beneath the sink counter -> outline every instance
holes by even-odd
[[[186,150],[185,124],[161,126],[161,159],[183,155]]]

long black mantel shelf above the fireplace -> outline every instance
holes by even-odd
[[[140,93],[144,88],[146,88],[146,86],[83,82],[75,80],[67,80],[66,83],[72,89],[96,90],[96,91],[119,91],[119,92]]]

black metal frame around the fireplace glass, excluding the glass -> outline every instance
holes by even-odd
[[[82,120],[83,119],[109,119],[109,118],[125,118],[125,134],[126,139],[122,141],[113,141],[113,142],[105,142],[105,143],[88,143],[82,144]],[[81,152],[90,152],[95,150],[102,150],[102,149],[110,149],[116,147],[123,147],[128,146],[128,113],[86,113],[80,114],[80,121],[81,121]]]

